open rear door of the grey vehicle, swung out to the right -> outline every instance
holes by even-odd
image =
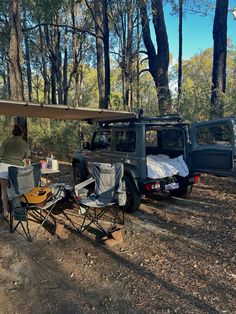
[[[236,175],[235,122],[232,117],[191,126],[191,170],[223,176]]]

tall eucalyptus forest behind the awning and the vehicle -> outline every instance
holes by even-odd
[[[178,112],[189,122],[236,115],[236,50],[227,36],[232,13],[228,0],[2,0],[0,98]],[[178,58],[169,50],[167,15],[178,20]],[[214,47],[183,59],[183,20],[196,15],[214,17]],[[24,123],[32,150],[57,158],[70,159],[79,134],[90,134],[78,121]],[[0,117],[1,141],[11,124]]]

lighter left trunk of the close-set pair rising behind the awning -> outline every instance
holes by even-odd
[[[99,92],[99,108],[106,108],[105,102],[105,83],[103,73],[103,33],[101,22],[101,10],[98,1],[94,1],[95,15],[95,33],[96,33],[96,49],[97,49],[97,79]]]

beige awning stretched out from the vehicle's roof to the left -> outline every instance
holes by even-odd
[[[44,105],[13,100],[0,100],[0,115],[90,122],[129,120],[136,118],[134,112],[83,107],[75,108],[63,105]]]

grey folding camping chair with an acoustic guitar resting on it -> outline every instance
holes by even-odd
[[[36,237],[55,205],[63,198],[61,189],[52,193],[49,187],[40,187],[41,164],[35,163],[26,168],[9,167],[9,189],[8,198],[10,201],[10,231],[15,232],[19,226],[22,227],[27,240],[32,241]],[[43,211],[46,215],[43,215]],[[40,224],[33,236],[29,231],[29,214],[39,221]],[[16,223],[15,223],[16,221]]]

